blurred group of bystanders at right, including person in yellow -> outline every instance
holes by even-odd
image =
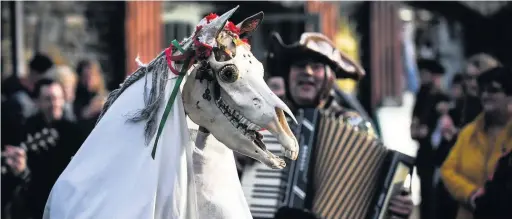
[[[421,218],[511,218],[512,71],[476,54],[445,93],[443,66],[417,64],[411,137],[419,144]]]

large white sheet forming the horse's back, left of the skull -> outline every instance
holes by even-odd
[[[175,81],[168,80],[165,101]],[[153,160],[155,137],[145,146],[145,123],[126,122],[129,113],[142,109],[143,89],[144,80],[127,88],[94,128],[55,183],[44,219],[198,218],[181,94]]]

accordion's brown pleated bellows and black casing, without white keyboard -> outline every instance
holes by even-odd
[[[299,155],[299,165],[288,173],[289,179],[302,180],[283,182],[283,205],[308,208],[328,219],[389,218],[389,199],[401,192],[407,179],[410,182],[414,158],[386,148],[346,118],[322,110],[305,110],[304,118],[314,121],[306,125],[315,127],[309,131],[314,134],[308,135],[302,125],[297,135],[299,142],[305,138],[309,145],[301,144],[304,157]]]

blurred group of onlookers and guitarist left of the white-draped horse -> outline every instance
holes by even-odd
[[[26,77],[2,82],[2,218],[42,218],[61,172],[94,128],[108,95],[100,65],[54,64],[38,53]]]

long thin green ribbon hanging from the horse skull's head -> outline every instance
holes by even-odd
[[[180,52],[185,54],[185,50],[183,50],[183,48],[181,48],[178,41],[173,40],[172,44],[174,44],[174,46],[176,48],[178,48],[178,50],[180,50]],[[185,61],[185,64],[181,67],[181,72],[178,75],[178,79],[176,81],[176,84],[174,85],[171,96],[169,97],[169,100],[167,100],[167,105],[165,106],[165,111],[162,116],[162,120],[160,120],[160,125],[158,126],[158,131],[156,133],[155,144],[153,145],[153,150],[151,151],[151,157],[153,158],[153,160],[155,159],[155,153],[156,153],[156,147],[158,145],[158,139],[160,138],[160,135],[162,134],[165,122],[167,121],[167,117],[169,116],[169,113],[171,112],[172,105],[174,103],[174,100],[176,99],[176,96],[178,95],[178,90],[180,89],[181,82],[183,81],[183,78],[185,77],[185,74],[188,70],[187,67],[189,66],[189,63],[191,60],[192,60],[192,57],[187,58],[187,60]]]

